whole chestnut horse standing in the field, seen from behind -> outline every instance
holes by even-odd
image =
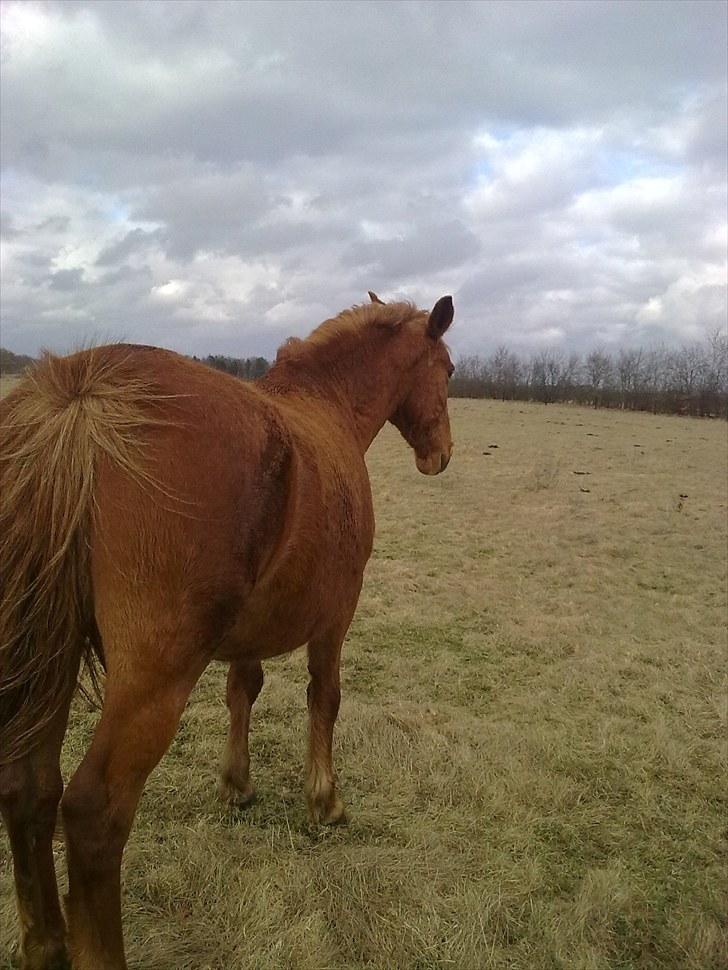
[[[331,760],[339,657],[372,549],[364,454],[389,420],[428,475],[452,450],[449,296],[345,310],[245,384],[167,350],[46,356],[0,409],[0,807],[26,970],[126,966],[124,846],[149,773],[211,660],[230,664],[221,791],[253,795],[261,660],[308,645],[305,793],[344,816]],[[51,839],[79,668],[106,671],[101,717]],[[68,935],[68,940],[66,936]]]

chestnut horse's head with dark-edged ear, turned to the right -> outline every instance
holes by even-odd
[[[381,302],[370,293],[374,302]],[[414,448],[423,475],[445,471],[452,454],[447,382],[454,370],[442,336],[454,315],[451,296],[441,297],[432,311],[412,323],[410,339],[417,341],[415,363],[407,375],[404,396],[390,417]]]

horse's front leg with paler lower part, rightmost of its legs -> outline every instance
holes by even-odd
[[[311,821],[332,825],[345,820],[344,803],[336,793],[332,763],[334,724],[341,689],[339,659],[343,634],[328,634],[308,645],[308,759],[305,792]]]

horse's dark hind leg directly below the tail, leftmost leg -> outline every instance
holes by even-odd
[[[59,757],[72,693],[30,754],[0,768],[0,809],[13,854],[24,970],[68,966],[52,839],[63,791]]]

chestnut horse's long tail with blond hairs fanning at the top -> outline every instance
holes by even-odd
[[[92,635],[90,532],[101,455],[149,480],[148,382],[103,347],[45,355],[0,402],[0,765],[26,754],[67,701]],[[146,407],[145,407],[146,405]]]

